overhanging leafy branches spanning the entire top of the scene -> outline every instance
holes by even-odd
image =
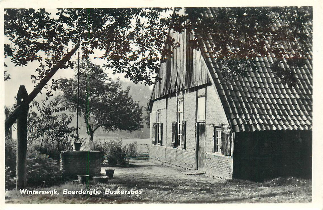
[[[5,45],[5,56],[19,66],[43,62],[36,82],[71,45],[80,43],[82,59],[100,50],[103,67],[125,73],[134,83],[152,84],[160,61],[179,46],[167,36],[169,29],[191,31],[194,49],[210,36],[214,58],[241,60],[243,67],[257,56],[306,58],[311,20],[311,7],[192,7],[185,13],[180,8],[5,9],[5,35],[13,43]],[[166,42],[171,48],[164,48]]]

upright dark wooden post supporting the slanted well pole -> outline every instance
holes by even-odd
[[[17,119],[17,183],[16,189],[26,187],[26,156],[27,156],[27,114],[28,93],[24,85],[20,85],[17,93],[17,106],[22,106],[21,114]]]

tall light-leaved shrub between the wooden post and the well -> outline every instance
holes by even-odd
[[[59,98],[33,101],[28,112],[28,143],[31,147],[59,160],[60,152],[72,149],[76,128],[70,126],[73,115],[64,113]]]

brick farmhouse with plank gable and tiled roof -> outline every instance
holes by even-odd
[[[148,103],[150,159],[226,179],[311,177],[311,55],[295,69],[294,87],[275,76],[272,56],[227,81],[215,40],[202,37],[192,50],[190,34],[170,35],[181,45],[161,63]]]

